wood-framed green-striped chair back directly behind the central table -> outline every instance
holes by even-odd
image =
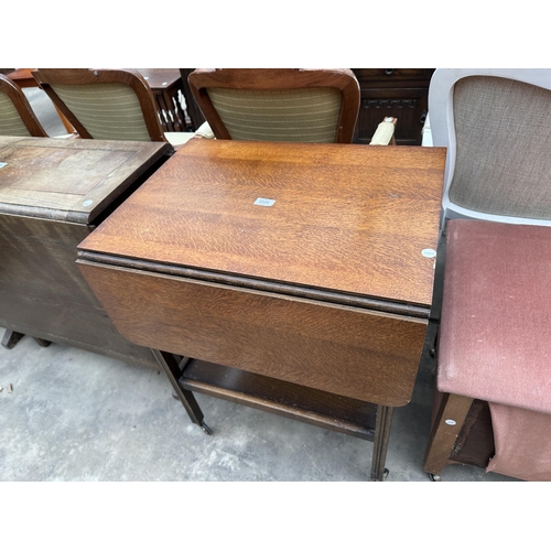
[[[195,69],[190,87],[217,139],[350,143],[350,69]]]

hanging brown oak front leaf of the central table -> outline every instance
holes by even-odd
[[[401,316],[79,261],[141,346],[383,406],[409,402],[426,325]]]

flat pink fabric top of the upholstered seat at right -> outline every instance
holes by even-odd
[[[450,220],[440,391],[551,413],[551,228]]]

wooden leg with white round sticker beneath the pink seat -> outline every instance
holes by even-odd
[[[444,395],[424,456],[424,471],[431,474],[433,479],[439,479],[440,473],[447,465],[472,403],[473,398],[466,396]]]

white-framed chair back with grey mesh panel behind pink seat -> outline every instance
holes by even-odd
[[[551,226],[550,69],[437,69],[429,114],[447,148],[443,224]]]

